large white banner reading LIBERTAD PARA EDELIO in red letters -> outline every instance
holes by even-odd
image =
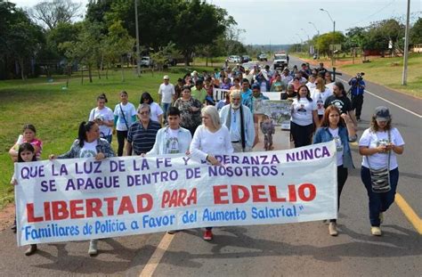
[[[18,245],[337,218],[336,145],[15,163]]]

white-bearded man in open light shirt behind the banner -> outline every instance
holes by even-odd
[[[220,120],[229,129],[234,151],[251,151],[255,140],[252,112],[247,106],[241,104],[239,90],[231,91],[230,102],[230,105],[225,105],[220,110]]]

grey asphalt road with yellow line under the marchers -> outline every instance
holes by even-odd
[[[298,63],[290,59],[290,66]],[[367,83],[367,90],[360,134],[369,126],[375,107],[390,108],[394,126],[406,143],[398,159],[398,191],[421,216],[422,102],[375,84]],[[93,258],[86,253],[87,241],[43,244],[38,254],[25,257],[24,248],[17,248],[15,236],[5,230],[0,235],[0,275],[139,276],[143,271],[154,276],[420,276],[421,235],[401,208],[394,204],[385,214],[382,237],[370,235],[368,198],[361,184],[356,146],[353,161],[357,168],[349,173],[342,193],[338,237],[330,237],[328,226],[321,222],[223,227],[215,228],[211,242],[202,240],[200,230],[174,235],[161,232],[101,240],[101,252]]]

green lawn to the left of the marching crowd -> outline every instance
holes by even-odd
[[[49,154],[61,154],[69,150],[77,137],[77,127],[87,120],[89,111],[96,106],[96,97],[105,93],[109,99],[107,106],[114,109],[119,102],[118,93],[126,90],[129,102],[139,103],[142,92],[148,91],[158,101],[158,86],[163,75],[168,75],[174,84],[177,78],[191,70],[211,71],[205,67],[172,67],[164,72],[147,71],[137,77],[133,69],[126,69],[125,82],[121,81],[120,71],[109,71],[109,79],[93,77],[93,83],[85,78],[81,85],[80,73],[69,82],[69,88],[63,90],[66,77],[55,76],[53,82],[46,77],[34,79],[0,81],[0,208],[13,200],[13,188],[9,184],[13,165],[8,151],[16,142],[21,127],[32,123],[37,127],[37,137],[44,143],[42,159]],[[113,147],[117,149],[116,138]]]

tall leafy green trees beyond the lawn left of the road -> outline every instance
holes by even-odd
[[[206,57],[246,53],[242,30],[229,13],[200,0],[136,0],[141,55],[158,63],[174,56],[188,65]],[[123,68],[137,61],[135,0],[91,0],[85,15],[71,0],[40,2],[27,10],[0,0],[0,78],[36,77]],[[78,20],[77,18],[83,18]],[[77,67],[76,67],[77,66]],[[82,70],[84,72],[84,70]],[[122,78],[124,78],[122,70]]]

